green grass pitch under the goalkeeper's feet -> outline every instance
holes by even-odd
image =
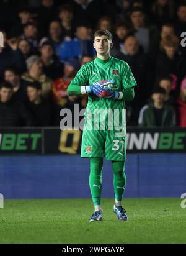
[[[104,221],[88,222],[91,199],[12,199],[0,209],[0,243],[185,243],[186,209],[179,198],[130,198],[129,221],[102,199]]]

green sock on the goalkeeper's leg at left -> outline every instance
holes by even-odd
[[[102,193],[102,170],[103,158],[91,158],[89,185],[94,206],[100,205],[100,197]]]

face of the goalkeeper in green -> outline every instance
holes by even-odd
[[[112,46],[113,43],[109,40],[107,35],[101,35],[94,39],[94,48],[99,55],[108,55]]]

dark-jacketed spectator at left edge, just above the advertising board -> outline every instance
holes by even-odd
[[[24,104],[12,99],[13,89],[10,83],[0,86],[0,127],[31,126],[32,116]]]

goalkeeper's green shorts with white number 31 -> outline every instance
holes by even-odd
[[[125,133],[123,133],[125,134]],[[81,157],[104,157],[111,161],[125,161],[126,137],[117,127],[105,130],[83,130]]]

